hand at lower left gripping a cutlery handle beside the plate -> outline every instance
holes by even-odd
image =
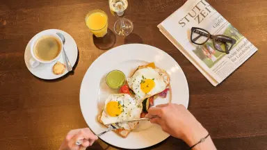
[[[83,143],[81,145],[76,145],[78,140],[83,140]],[[79,128],[67,133],[59,150],[85,150],[86,147],[90,147],[95,140],[97,140],[97,136],[92,133],[89,128]]]

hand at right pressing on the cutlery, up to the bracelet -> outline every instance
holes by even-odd
[[[183,106],[176,103],[166,103],[149,108],[146,117],[152,117],[152,124],[159,124],[163,131],[175,138],[184,140],[188,145],[193,145],[208,132],[197,122],[197,119]]]

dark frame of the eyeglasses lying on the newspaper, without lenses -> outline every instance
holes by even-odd
[[[197,30],[198,29],[198,30]],[[195,33],[198,33],[200,35],[198,35],[196,38],[193,39],[193,31],[198,31],[198,32],[195,32]],[[200,30],[200,31],[199,31]],[[204,33],[204,32],[201,32],[201,31],[205,31],[207,33]],[[198,39],[200,38],[200,36],[204,36],[204,37],[207,37],[207,40],[203,43],[196,43],[195,42],[195,39]],[[225,38],[220,38],[220,37],[225,37]],[[228,38],[228,39],[226,39]],[[236,40],[234,40],[233,38],[227,36],[227,35],[211,35],[211,33],[209,33],[209,31],[203,29],[203,28],[197,28],[197,27],[192,27],[191,28],[191,42],[193,42],[194,44],[197,44],[197,45],[203,45],[205,44],[206,42],[208,42],[209,40],[213,40],[213,47],[217,50],[217,51],[220,51],[220,49],[217,49],[216,48],[216,40],[217,41],[220,41],[220,42],[223,42],[225,43],[225,47],[228,47],[228,45],[226,43],[231,43],[231,47],[229,49],[226,49],[226,51],[220,51],[222,53],[229,53],[229,51],[231,51],[232,47],[234,46],[234,44],[236,44]]]

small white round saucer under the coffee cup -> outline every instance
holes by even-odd
[[[60,78],[61,76],[64,76],[65,74],[67,74],[67,72],[68,72],[67,67],[66,67],[65,72],[63,74],[56,75],[53,73],[53,66],[58,61],[60,63],[65,64],[65,60],[63,58],[62,53],[60,53],[60,57],[58,58],[58,60],[54,61],[53,63],[49,63],[49,64],[41,63],[40,65],[38,65],[35,68],[31,67],[31,65],[29,64],[29,60],[31,59],[31,42],[33,42],[33,39],[36,36],[43,34],[43,33],[51,33],[51,34],[62,33],[65,36],[64,48],[65,48],[67,57],[69,58],[70,64],[72,65],[72,67],[76,63],[77,56],[78,56],[78,49],[77,49],[76,42],[74,41],[74,39],[72,38],[71,35],[69,35],[68,33],[64,32],[64,31],[60,31],[58,29],[49,29],[49,30],[42,31],[42,32],[38,33],[37,35],[35,35],[33,38],[31,38],[31,40],[29,41],[29,43],[26,46],[25,53],[24,53],[24,60],[25,60],[26,66],[29,69],[29,71],[31,72],[31,74],[33,74],[34,76],[37,76],[38,78],[42,78],[42,79],[46,79],[46,80]]]

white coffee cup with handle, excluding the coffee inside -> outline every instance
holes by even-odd
[[[44,35],[51,35],[54,38],[56,38],[58,40],[58,42],[60,42],[60,46],[61,46],[60,52],[58,53],[58,56],[56,56],[56,58],[54,58],[53,60],[49,60],[49,61],[40,60],[34,54],[34,46],[35,46],[35,43],[38,42],[38,40],[40,40],[40,38],[42,38]],[[37,67],[38,65],[40,65],[40,63],[44,63],[44,64],[53,63],[55,60],[57,60],[60,57],[60,54],[61,54],[62,51],[63,51],[63,42],[59,38],[58,35],[56,35],[56,34],[49,34],[49,33],[43,33],[41,35],[36,36],[33,39],[33,42],[31,42],[31,59],[29,60],[29,64],[31,65],[31,67]]]

